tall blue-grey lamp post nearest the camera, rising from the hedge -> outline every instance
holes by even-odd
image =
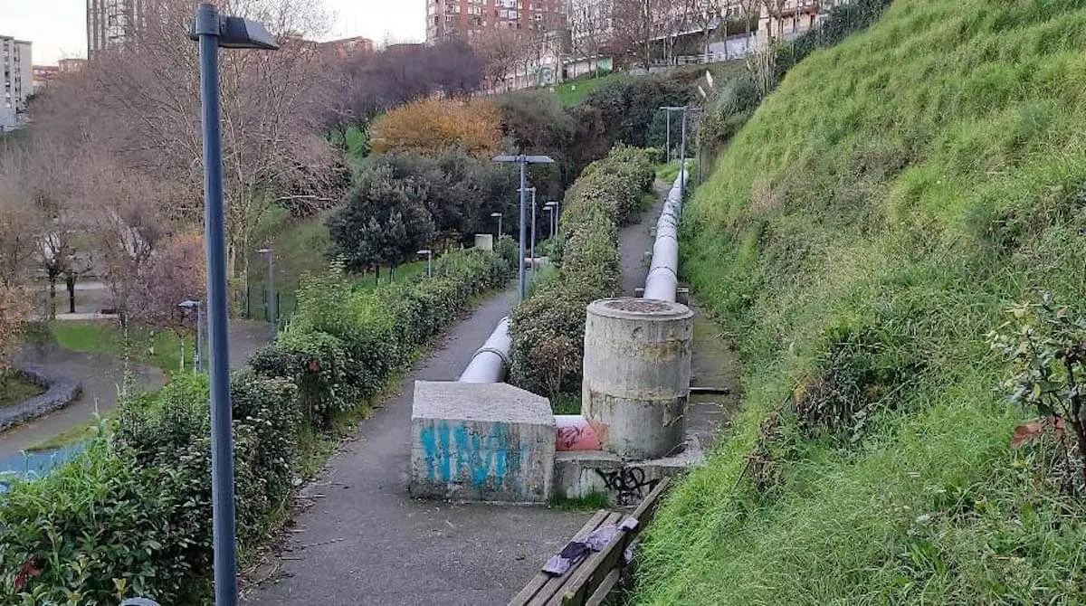
[[[207,340],[211,344],[211,495],[215,604],[235,606],[238,603],[238,536],[233,505],[233,444],[230,437],[229,336],[226,330],[226,228],[218,49],[275,50],[279,45],[263,25],[242,17],[219,15],[211,3],[197,7],[190,38],[200,45],[204,240],[207,247]]]

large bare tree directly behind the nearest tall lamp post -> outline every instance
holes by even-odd
[[[258,17],[279,35],[277,52],[222,54],[223,169],[231,275],[244,276],[252,233],[270,206],[331,202],[336,161],[323,137],[324,91],[312,31],[320,15],[310,0],[227,0],[220,8]],[[191,2],[162,0],[136,43],[104,51],[78,77],[47,96],[35,119],[47,134],[78,132],[96,153],[113,156],[117,178],[161,184],[165,218],[202,215],[202,138],[197,47],[187,41]],[[77,100],[77,104],[73,103]]]

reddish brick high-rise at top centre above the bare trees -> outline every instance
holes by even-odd
[[[426,40],[470,39],[488,29],[565,27],[566,0],[427,0]]]

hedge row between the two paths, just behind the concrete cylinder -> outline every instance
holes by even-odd
[[[538,285],[512,315],[512,377],[547,396],[580,390],[584,308],[621,289],[618,228],[637,216],[652,191],[646,150],[616,147],[581,173],[563,205],[559,270]]]

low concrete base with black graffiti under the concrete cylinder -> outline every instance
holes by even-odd
[[[555,454],[554,493],[565,498],[603,494],[613,505],[636,505],[664,478],[705,463],[697,438],[691,435],[678,455],[651,460],[623,462],[604,451]]]

